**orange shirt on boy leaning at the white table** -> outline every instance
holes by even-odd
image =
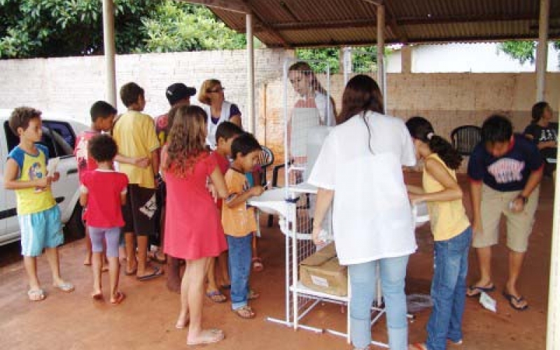
[[[245,174],[241,174],[235,169],[228,169],[228,172],[225,173],[225,184],[228,186],[229,195],[222,207],[223,231],[229,236],[245,237],[257,230],[255,209],[247,207],[246,202],[233,208],[228,207],[226,203],[249,189],[247,178]]]

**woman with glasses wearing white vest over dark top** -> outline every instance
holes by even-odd
[[[241,111],[237,104],[225,101],[224,87],[220,80],[209,79],[204,80],[198,100],[202,102],[202,109],[207,113],[208,133],[206,144],[211,149],[216,149],[216,129],[218,125],[225,121],[229,121],[241,127]]]

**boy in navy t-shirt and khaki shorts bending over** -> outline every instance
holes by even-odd
[[[472,197],[472,246],[477,248],[480,279],[467,296],[475,297],[496,287],[491,274],[492,246],[498,243],[502,214],[507,222],[510,274],[504,297],[516,310],[528,303],[517,290],[517,279],[533,229],[542,179],[542,158],[538,148],[521,135],[513,134],[510,120],[493,115],[482,125],[482,141],[468,163]]]

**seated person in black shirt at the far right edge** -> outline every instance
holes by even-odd
[[[531,110],[531,124],[525,131],[525,137],[533,140],[540,155],[545,160],[545,175],[552,176],[556,170],[556,148],[558,147],[558,123],[552,123],[552,109],[547,102],[538,102]]]

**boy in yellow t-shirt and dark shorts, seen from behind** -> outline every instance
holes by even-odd
[[[146,263],[148,236],[155,234],[155,174],[158,174],[160,167],[160,143],[155,134],[153,119],[141,113],[146,106],[144,89],[136,83],[127,83],[120,88],[120,99],[128,110],[118,118],[113,127],[119,155],[130,158],[147,157],[151,163],[151,167],[141,168],[117,159],[120,172],[127,174],[129,181],[127,204],[123,207],[123,232],[127,252],[125,274],[136,275],[139,281],[148,281],[163,274],[160,267],[151,268]]]

